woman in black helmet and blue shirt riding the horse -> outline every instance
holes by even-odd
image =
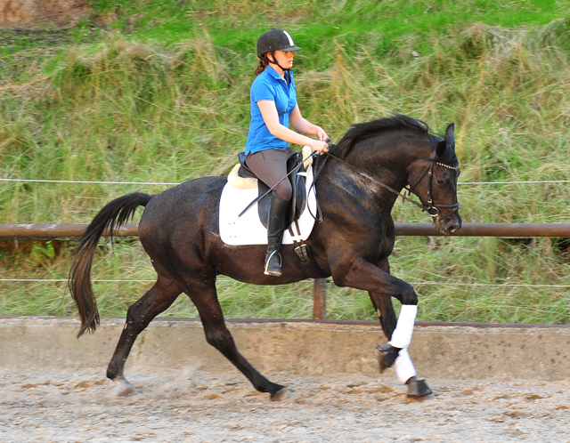
[[[301,116],[297,105],[293,67],[294,51],[289,33],[272,28],[257,40],[256,79],[251,85],[251,123],[246,143],[246,163],[259,180],[275,189],[267,221],[265,275],[281,276],[281,242],[287,228],[286,215],[292,189],[287,175],[287,160],[297,154],[289,143],[306,145],[319,152],[329,150],[329,137],[321,127]],[[291,131],[289,125],[298,133]],[[314,140],[300,133],[316,135]],[[281,182],[280,182],[281,181]]]

